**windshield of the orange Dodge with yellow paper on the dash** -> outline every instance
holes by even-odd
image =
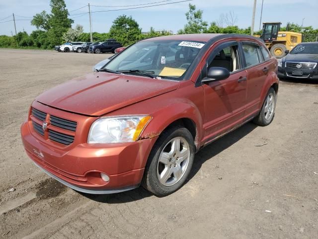
[[[181,40],[147,40],[138,42],[104,68],[124,74],[151,73],[154,77],[182,80],[204,43]]]

